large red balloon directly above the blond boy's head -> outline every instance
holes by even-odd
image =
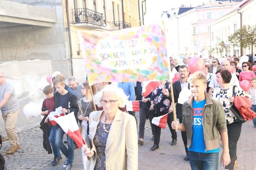
[[[200,57],[193,57],[189,60],[188,63],[188,70],[193,74],[196,71],[204,71],[205,70],[205,63],[204,60]]]

